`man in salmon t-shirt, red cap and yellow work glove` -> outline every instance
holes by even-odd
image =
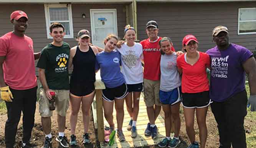
[[[31,131],[35,122],[36,75],[33,41],[25,35],[28,16],[14,11],[10,16],[13,31],[0,37],[0,93],[7,107],[5,145],[13,148],[21,111],[23,112],[22,148],[32,148]]]

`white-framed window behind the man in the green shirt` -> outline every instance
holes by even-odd
[[[52,38],[50,36],[50,24],[54,22],[59,22],[63,24],[65,28],[64,38],[73,38],[73,21],[72,21],[72,10],[71,4],[46,4],[45,5],[45,21],[47,38]]]

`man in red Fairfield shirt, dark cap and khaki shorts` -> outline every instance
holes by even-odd
[[[146,33],[149,38],[140,42],[144,56],[144,101],[149,117],[149,123],[144,134],[146,136],[151,135],[153,139],[157,137],[155,120],[161,111],[159,99],[161,50],[159,41],[162,37],[158,36],[158,32],[159,28],[156,21],[147,22]],[[172,50],[175,51],[173,47]]]

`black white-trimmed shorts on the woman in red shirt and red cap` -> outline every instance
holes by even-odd
[[[203,108],[209,106],[209,91],[200,93],[182,93],[182,105],[186,108]]]

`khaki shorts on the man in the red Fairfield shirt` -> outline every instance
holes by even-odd
[[[144,79],[144,102],[147,107],[161,106],[159,99],[160,81]]]

